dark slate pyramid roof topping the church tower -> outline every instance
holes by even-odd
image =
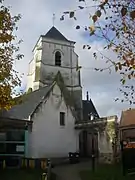
[[[69,41],[67,38],[63,36],[54,26],[44,35],[45,38],[61,40],[61,41]]]

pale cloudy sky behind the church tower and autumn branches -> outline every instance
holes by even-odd
[[[92,0],[88,0],[88,5],[93,5]],[[5,4],[11,6],[13,15],[21,14],[22,18],[18,23],[17,36],[23,39],[20,46],[24,58],[15,62],[15,68],[24,73],[22,79],[22,89],[27,83],[28,63],[32,59],[32,49],[39,36],[46,34],[53,25],[53,13],[55,13],[55,27],[69,40],[76,41],[75,52],[79,55],[79,64],[82,66],[81,77],[83,87],[83,99],[86,99],[86,91],[92,99],[100,116],[111,116],[121,114],[122,110],[129,108],[128,103],[115,102],[116,97],[120,97],[120,77],[112,72],[95,72],[91,68],[103,67],[105,62],[101,59],[95,60],[93,52],[96,49],[103,51],[103,41],[97,39],[90,40],[88,34],[82,30],[76,30],[77,24],[89,25],[89,12],[95,11],[95,7],[86,11],[77,12],[77,21],[66,18],[60,21],[62,12],[76,9],[78,0],[5,0]],[[83,5],[83,4],[82,4]],[[83,44],[89,43],[91,50],[83,50]],[[105,55],[115,58],[110,51],[104,51]]]

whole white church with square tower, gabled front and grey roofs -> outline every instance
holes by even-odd
[[[82,100],[81,74],[75,42],[54,26],[41,35],[29,63],[26,93],[21,103],[1,113],[0,155],[32,158],[67,157],[82,151],[77,122],[99,114]],[[81,146],[82,147],[82,146]]]

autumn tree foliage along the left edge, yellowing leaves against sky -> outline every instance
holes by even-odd
[[[15,60],[20,60],[19,44],[15,31],[20,15],[12,16],[10,9],[0,1],[0,109],[11,108],[16,101],[13,95],[18,95],[14,90],[21,85],[18,72],[13,69]]]

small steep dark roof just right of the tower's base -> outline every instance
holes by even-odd
[[[88,120],[88,114],[92,113],[99,118],[99,114],[92,102],[92,100],[83,100],[83,120]]]

